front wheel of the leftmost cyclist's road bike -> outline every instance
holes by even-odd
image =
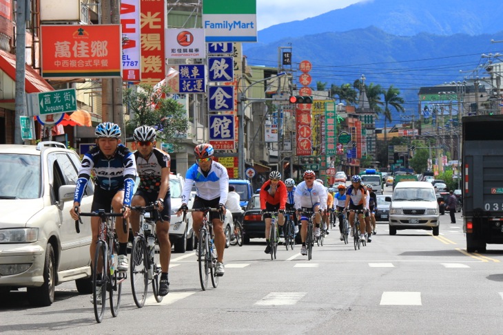
[[[96,242],[96,254],[92,267],[92,303],[94,305],[94,317],[97,323],[103,320],[107,302],[107,247],[103,241]],[[101,279],[98,278],[101,274]],[[96,294],[96,289],[101,287],[101,294]]]

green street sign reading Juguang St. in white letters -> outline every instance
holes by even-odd
[[[75,89],[59,89],[41,93],[28,94],[32,115],[68,113],[77,110]]]

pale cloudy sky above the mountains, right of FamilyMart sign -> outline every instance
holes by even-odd
[[[316,17],[362,0],[257,0],[257,29]]]

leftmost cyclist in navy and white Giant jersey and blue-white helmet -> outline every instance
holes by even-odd
[[[116,218],[116,233],[119,239],[117,267],[118,271],[127,271],[127,237],[122,225],[123,219],[130,216],[131,199],[133,197],[134,178],[136,176],[136,161],[133,153],[121,144],[121,128],[112,122],[100,123],[94,131],[96,147],[85,153],[79,169],[79,179],[76,182],[74,203],[70,208],[72,219],[79,216],[74,212],[75,207],[80,207],[85,188],[93,174],[94,197],[91,210],[93,212],[103,209],[109,211],[113,208],[114,213],[123,212],[123,217]],[[79,208],[80,211],[80,208]],[[94,261],[96,241],[99,234],[99,217],[91,217],[91,261]],[[126,230],[127,231],[127,230]],[[101,274],[97,274],[99,278]],[[98,288],[101,291],[101,287]],[[101,294],[101,292],[96,292]]]

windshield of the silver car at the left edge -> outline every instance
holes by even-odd
[[[37,199],[41,197],[39,155],[0,155],[0,199]]]

